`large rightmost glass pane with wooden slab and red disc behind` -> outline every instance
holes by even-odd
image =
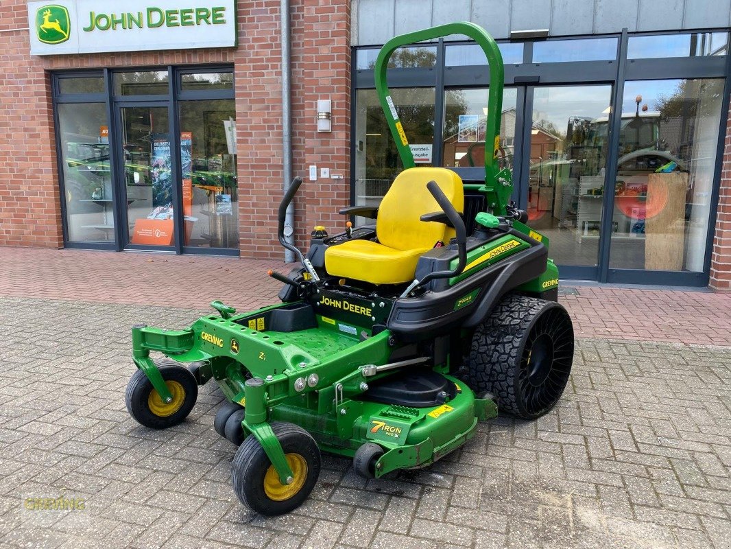
[[[723,87],[625,83],[610,267],[702,272]]]

